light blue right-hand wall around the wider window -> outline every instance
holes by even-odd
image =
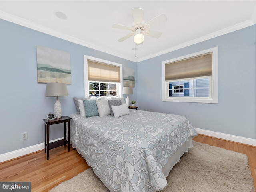
[[[141,110],[180,114],[196,128],[256,139],[256,26],[138,63]],[[163,102],[162,62],[218,46],[218,104]]]

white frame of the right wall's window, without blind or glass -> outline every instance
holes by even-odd
[[[209,78],[209,97],[169,97],[169,82],[165,80],[165,65],[202,54],[212,52],[212,76]],[[193,79],[193,78],[189,78]],[[171,80],[171,81],[179,81]],[[218,47],[210,48],[200,52],[188,54],[162,62],[162,101],[167,102],[196,102],[196,103],[218,103]]]

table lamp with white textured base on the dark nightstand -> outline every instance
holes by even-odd
[[[68,88],[65,83],[47,83],[46,84],[46,97],[57,97],[54,104],[54,113],[57,119],[61,118],[61,104],[59,96],[68,96]]]

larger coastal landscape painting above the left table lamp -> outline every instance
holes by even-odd
[[[71,84],[70,53],[36,46],[37,82]]]

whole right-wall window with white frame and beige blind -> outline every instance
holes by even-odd
[[[217,47],[164,61],[163,101],[218,103]]]

